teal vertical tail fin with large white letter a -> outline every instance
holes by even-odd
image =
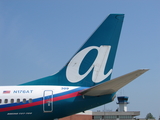
[[[55,75],[21,85],[93,86],[110,80],[124,14],[110,14]]]

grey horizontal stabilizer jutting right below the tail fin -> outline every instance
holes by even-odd
[[[112,94],[117,92],[120,88],[130,83],[143,73],[148,71],[148,69],[140,69],[134,72],[128,73],[126,75],[120,76],[118,78],[112,79],[110,81],[101,83],[99,85],[93,86],[89,89],[80,92],[82,95],[86,96],[101,96],[106,94]]]

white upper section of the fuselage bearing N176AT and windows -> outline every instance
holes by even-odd
[[[1,86],[0,87],[0,105],[18,102],[32,102],[37,98],[43,98],[47,94],[58,94],[70,91],[77,87],[70,86]],[[50,93],[45,91],[50,91]]]

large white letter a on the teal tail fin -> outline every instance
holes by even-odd
[[[93,49],[96,49],[98,51],[98,55],[93,64],[87,70],[87,72],[84,73],[83,75],[80,75],[79,74],[80,65],[84,57],[88,54],[88,52]],[[103,81],[112,73],[112,69],[110,69],[109,72],[104,75],[104,70],[106,67],[110,49],[111,46],[100,46],[100,47],[91,46],[81,50],[72,58],[72,60],[69,62],[67,66],[66,70],[67,79],[72,83],[79,82],[83,78],[85,78],[93,69],[92,81],[95,83]]]

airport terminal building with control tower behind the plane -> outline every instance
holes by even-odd
[[[127,111],[127,96],[118,97],[117,104],[119,104],[119,108],[114,112],[85,111],[60,120],[135,120],[135,117],[140,115],[140,111]]]

